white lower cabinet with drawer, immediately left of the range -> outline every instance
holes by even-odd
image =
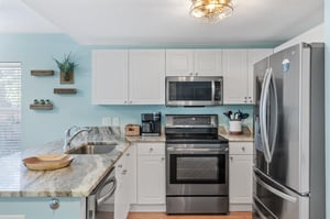
[[[165,204],[165,143],[136,143],[138,204]]]

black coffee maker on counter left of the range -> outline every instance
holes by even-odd
[[[162,131],[161,112],[141,114],[141,135],[158,136]]]

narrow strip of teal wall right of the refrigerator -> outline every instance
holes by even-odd
[[[326,40],[326,176],[327,176],[327,219],[330,219],[330,2],[324,0]]]

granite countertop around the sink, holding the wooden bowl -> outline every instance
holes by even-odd
[[[41,147],[29,149],[0,157],[0,197],[86,197],[107,175],[130,143],[112,128],[92,128],[90,134],[81,132],[72,142],[118,142],[108,154],[72,155],[70,166],[56,171],[29,171],[22,160],[40,154],[62,154],[63,140]]]

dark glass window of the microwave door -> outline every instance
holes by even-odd
[[[211,101],[212,83],[211,81],[170,81],[169,100],[173,101]]]

